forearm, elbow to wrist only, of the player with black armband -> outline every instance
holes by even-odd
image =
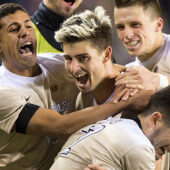
[[[111,115],[116,115],[121,110],[125,109],[126,106],[127,104],[125,102],[120,102],[118,104],[107,103],[63,116],[63,123],[65,122],[67,135],[89,124],[104,120]]]

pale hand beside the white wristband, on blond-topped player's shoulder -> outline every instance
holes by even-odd
[[[132,89],[157,90],[159,88],[159,76],[143,66],[131,66],[126,72],[119,74],[115,79],[116,86],[125,85]]]

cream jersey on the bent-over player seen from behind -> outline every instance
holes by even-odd
[[[50,170],[154,170],[155,151],[137,123],[128,119],[98,122],[74,133]]]

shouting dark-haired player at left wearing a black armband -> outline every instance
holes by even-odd
[[[134,104],[132,98],[66,114],[78,90],[63,56],[37,58],[32,21],[19,4],[0,6],[0,25],[0,169],[47,170],[61,139]]]

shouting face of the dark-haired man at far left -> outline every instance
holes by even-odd
[[[16,11],[0,19],[0,56],[5,67],[19,72],[36,63],[36,38],[27,13]]]

